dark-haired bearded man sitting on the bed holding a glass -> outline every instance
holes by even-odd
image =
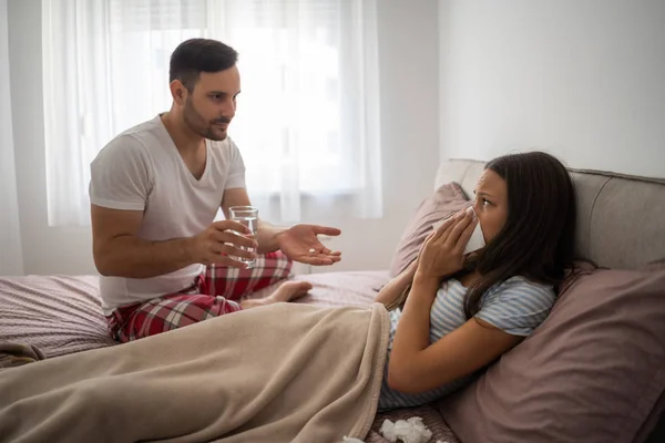
[[[340,260],[317,238],[339,235],[336,228],[285,229],[259,220],[252,238],[234,233],[248,234],[237,222],[214,222],[219,207],[228,218],[229,207],[250,204],[243,158],[227,137],[241,92],[236,61],[237,52],[218,41],[181,43],[171,56],[171,110],[120,134],[92,162],[93,256],[102,275],[102,308],[119,341],[288,301],[310,289],[306,282],[286,282],[262,300],[219,297],[227,271],[246,267],[232,257],[277,251],[264,266],[287,272],[290,260]],[[257,248],[256,254],[242,247]]]

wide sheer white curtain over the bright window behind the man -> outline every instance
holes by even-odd
[[[193,37],[239,52],[229,135],[262,217],[380,217],[376,0],[43,0],[50,225],[89,224],[89,165],[171,106]]]

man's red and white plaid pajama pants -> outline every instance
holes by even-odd
[[[115,309],[106,317],[109,332],[124,343],[239,311],[241,298],[288,277],[291,265],[276,251],[258,256],[250,269],[209,266],[181,292]]]

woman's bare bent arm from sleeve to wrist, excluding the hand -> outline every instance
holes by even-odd
[[[523,337],[473,318],[430,344],[430,310],[439,281],[413,280],[400,317],[388,365],[388,385],[420,393],[458,380],[494,361]]]

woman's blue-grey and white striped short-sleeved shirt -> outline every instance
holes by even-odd
[[[467,322],[464,296],[467,288],[451,278],[441,285],[430,311],[430,343]],[[477,318],[513,336],[529,336],[550,313],[555,295],[551,286],[512,277],[490,288],[482,297]],[[401,310],[390,312],[390,341],[379,398],[379,409],[417,406],[440,399],[471,381],[467,375],[451,383],[420,394],[406,394],[388,387],[388,362]]]

